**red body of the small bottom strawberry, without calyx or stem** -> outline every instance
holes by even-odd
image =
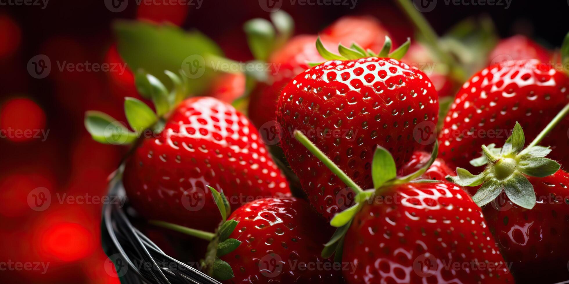
[[[259,199],[228,219],[239,222],[229,238],[242,243],[220,257],[235,275],[224,283],[343,283],[341,269],[324,269],[331,260],[320,256],[333,229],[303,199]],[[303,270],[303,262],[321,268]]]

